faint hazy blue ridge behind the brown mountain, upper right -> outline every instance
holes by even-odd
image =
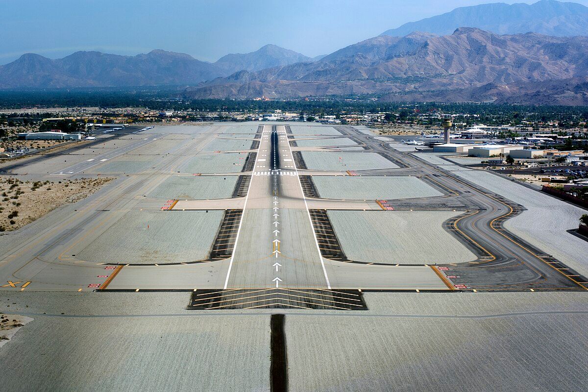
[[[588,7],[543,0],[534,4],[492,3],[460,7],[446,14],[403,24],[382,35],[405,36],[413,31],[447,35],[461,26],[498,34],[537,32],[553,36],[588,35]]]

